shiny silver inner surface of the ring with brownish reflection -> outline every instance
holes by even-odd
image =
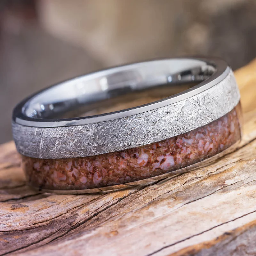
[[[32,97],[25,116],[58,119],[134,108],[188,90],[216,71],[202,60],[156,60],[81,76]]]

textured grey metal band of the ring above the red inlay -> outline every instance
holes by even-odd
[[[84,157],[135,148],[171,138],[226,115],[240,94],[230,70],[220,83],[168,106],[94,124],[28,127],[12,123],[20,154],[34,158]]]

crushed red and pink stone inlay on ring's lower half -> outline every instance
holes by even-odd
[[[240,104],[227,115],[191,132],[118,152],[66,159],[22,156],[28,183],[72,190],[112,186],[157,176],[200,162],[241,139]]]

